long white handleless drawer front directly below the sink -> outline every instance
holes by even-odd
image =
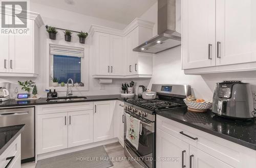
[[[72,112],[79,110],[93,110],[93,102],[60,103],[52,105],[38,105],[37,114]]]

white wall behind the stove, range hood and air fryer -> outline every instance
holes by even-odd
[[[180,5],[181,0],[177,0]],[[180,15],[180,10],[179,11]],[[146,11],[141,17],[148,21],[157,23],[157,3]],[[180,30],[180,17],[178,19],[178,31]],[[153,35],[157,34],[157,24],[154,27]],[[205,75],[185,75],[181,70],[181,47],[176,47],[153,56],[153,83],[159,84],[189,84],[197,98],[211,100],[215,84],[223,80],[242,80],[252,85],[252,90],[256,90],[256,71],[240,73],[216,73]]]

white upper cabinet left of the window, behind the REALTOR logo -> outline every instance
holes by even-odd
[[[1,34],[0,76],[37,77],[39,57],[39,28],[44,24],[38,13],[28,12],[27,28],[9,28],[22,33]],[[5,16],[11,19],[8,11]],[[18,21],[16,20],[15,23]]]

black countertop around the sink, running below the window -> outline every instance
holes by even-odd
[[[92,101],[107,101],[107,100],[120,100],[125,101],[130,98],[122,98],[120,94],[110,94],[110,95],[86,95],[86,100],[79,101],[67,101],[67,102],[49,102],[47,98],[40,98],[37,100],[19,100],[11,99],[5,102],[0,102],[0,108],[2,107],[15,107],[15,106],[35,106],[44,104],[60,104],[60,103],[79,103],[79,102],[92,102]]]

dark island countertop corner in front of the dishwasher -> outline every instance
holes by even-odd
[[[11,145],[11,143],[24,130],[23,125],[0,127],[0,155]]]

